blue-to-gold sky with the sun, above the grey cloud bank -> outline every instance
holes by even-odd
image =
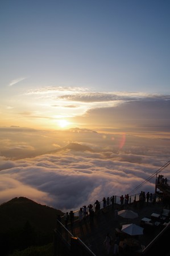
[[[2,126],[84,127],[92,109],[169,100],[169,1],[0,5]]]

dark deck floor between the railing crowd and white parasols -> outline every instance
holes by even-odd
[[[114,209],[122,210],[121,205],[114,205]],[[94,216],[94,223],[90,224],[89,217],[86,220],[74,222],[73,229],[68,228],[75,237],[79,237],[85,245],[87,245],[94,254],[97,256],[107,255],[103,241],[105,240],[106,234],[110,235],[115,239],[115,228],[121,229],[123,224],[134,223],[140,225],[142,218],[147,217],[151,218],[152,213],[160,214],[163,209],[162,203],[156,203],[154,205],[144,205],[142,209],[139,208],[139,205],[134,207],[133,204],[128,205],[128,209],[134,210],[138,213],[138,218],[132,220],[125,220],[124,218],[118,216],[118,220],[114,220],[114,209],[111,206],[107,209],[101,209],[98,214]],[[156,221],[156,220],[155,220]],[[163,222],[162,222],[163,224]],[[138,236],[138,240],[141,245],[147,246],[157,234],[163,229],[163,225],[155,226],[154,232],[143,234]],[[113,246],[109,255],[113,255]]]

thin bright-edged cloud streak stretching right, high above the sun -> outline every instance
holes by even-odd
[[[149,94],[143,92],[93,92],[87,88],[80,87],[62,87],[62,86],[44,86],[43,88],[31,89],[26,92],[26,95],[44,95],[44,99],[51,99],[59,102],[85,102],[98,104],[107,102],[125,102],[134,100],[169,100],[169,96],[160,94]],[[59,106],[53,105],[53,106]]]

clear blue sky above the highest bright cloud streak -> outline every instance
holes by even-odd
[[[169,93],[169,1],[1,1],[1,86]]]

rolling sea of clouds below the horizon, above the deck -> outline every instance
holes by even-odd
[[[130,193],[169,160],[164,137],[20,127],[1,128],[1,134],[0,203],[26,196],[75,210],[103,196]],[[168,177],[169,167],[162,174]],[[135,192],[141,190],[154,192],[155,177]]]

